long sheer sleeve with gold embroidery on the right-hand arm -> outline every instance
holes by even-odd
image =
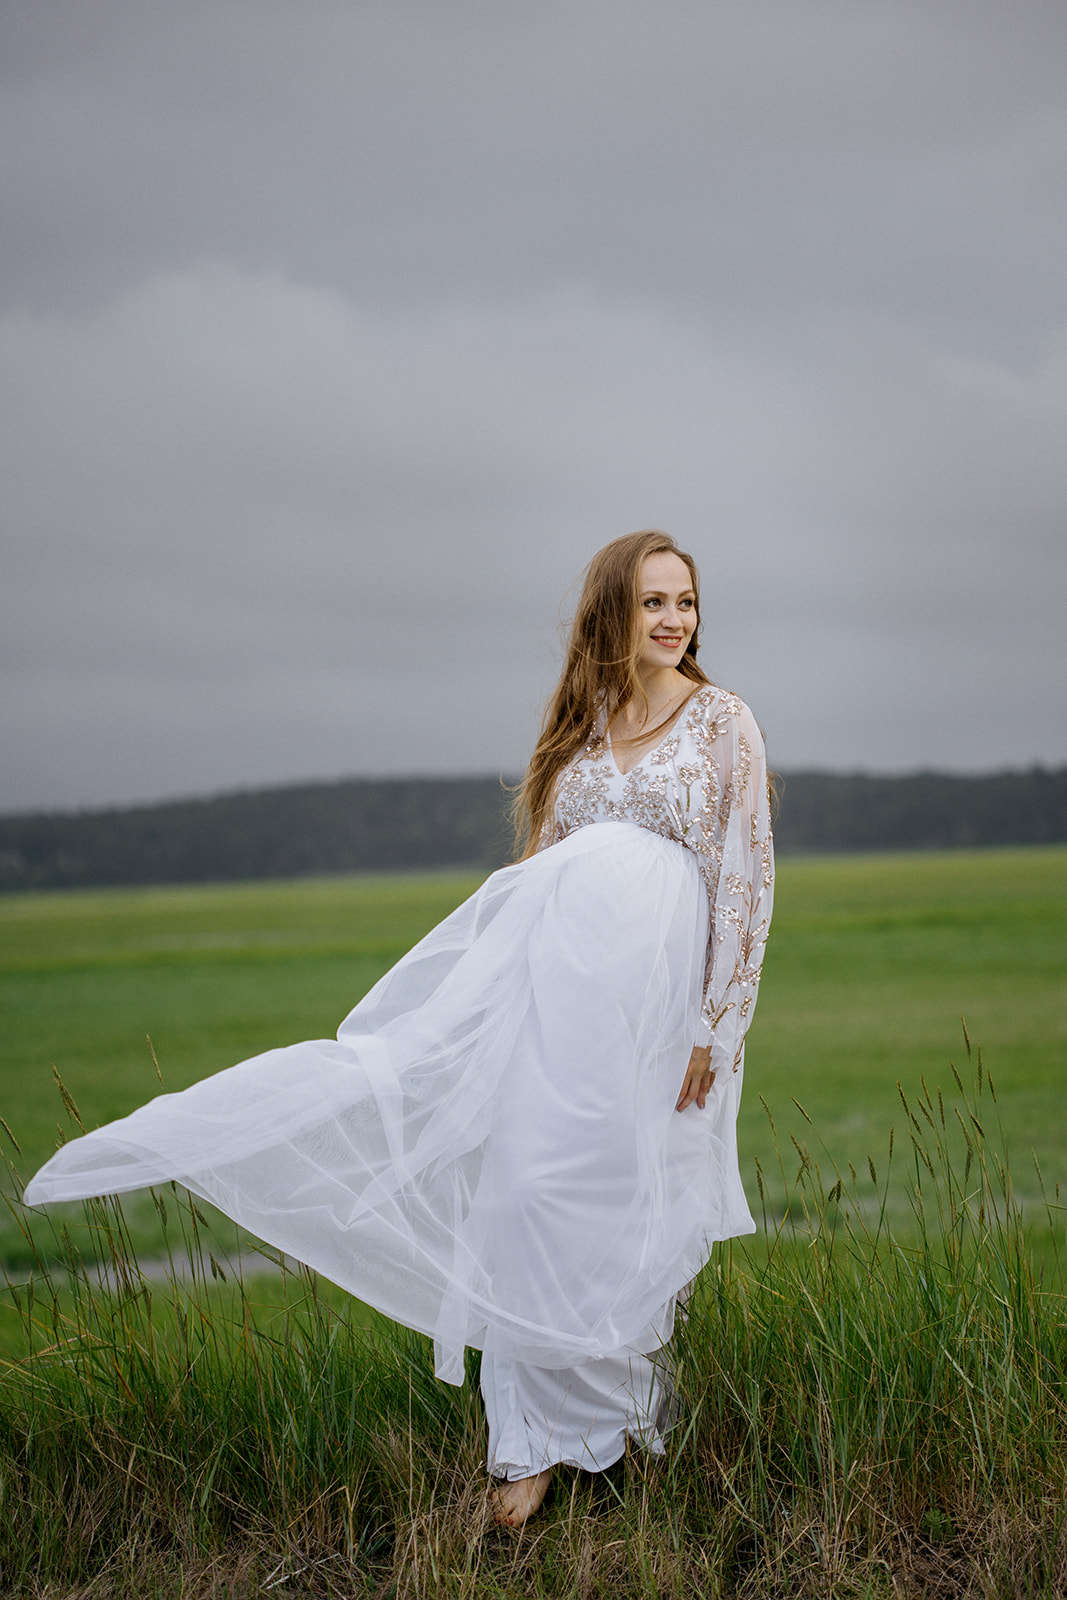
[[[691,723],[699,771],[691,782],[685,843],[694,850],[709,899],[709,946],[697,1045],[712,1067],[736,1070],[752,1019],[771,925],[774,854],[763,736],[734,694],[720,694]],[[696,790],[696,792],[694,792]]]

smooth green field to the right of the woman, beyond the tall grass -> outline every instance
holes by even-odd
[[[878,1160],[910,1096],[961,1061],[960,1018],[997,1062],[1022,1197],[1067,1184],[1067,850],[785,859],[752,1027],[739,1142],[750,1181],[779,1125],[841,1170]],[[787,1115],[789,1114],[789,1115]],[[897,1221],[905,1197],[891,1195]]]

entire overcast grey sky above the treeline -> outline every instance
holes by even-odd
[[[667,528],[777,768],[1067,760],[1059,0],[0,0],[0,810],[515,773]]]

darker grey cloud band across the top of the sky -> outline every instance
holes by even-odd
[[[40,50],[70,10],[22,29]],[[216,254],[362,299],[579,277],[737,312],[963,306],[1003,338],[1057,296],[1067,19],[1049,8],[94,14],[10,98],[10,270],[30,299]],[[1035,229],[1046,248],[1021,250]],[[1025,288],[1009,318],[1001,264]]]

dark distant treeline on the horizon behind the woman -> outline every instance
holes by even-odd
[[[779,853],[1067,842],[1067,766],[982,778],[787,773],[779,798]],[[496,778],[354,778],[0,816],[0,888],[490,869],[510,854],[507,808]]]

